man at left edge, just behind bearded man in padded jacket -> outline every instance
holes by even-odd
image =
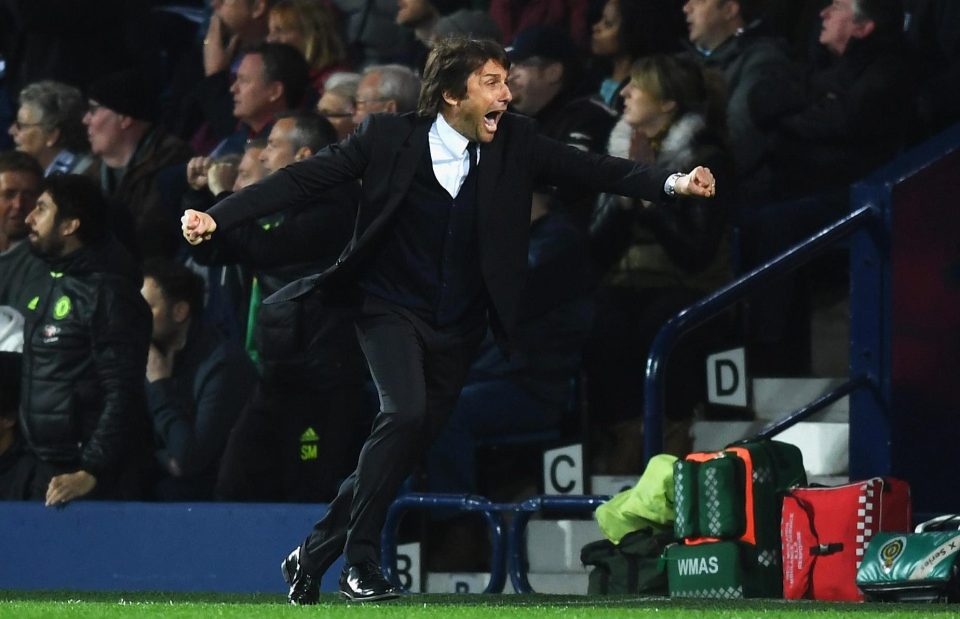
[[[21,315],[47,284],[49,269],[26,241],[27,214],[40,195],[43,168],[18,151],[0,153],[0,305]]]

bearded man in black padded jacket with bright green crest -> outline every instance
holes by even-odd
[[[56,276],[24,338],[20,425],[36,458],[29,498],[117,497],[145,429],[150,313],[135,263],[109,232],[89,179],[54,175],[27,216]]]

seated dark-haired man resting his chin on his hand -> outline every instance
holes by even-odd
[[[153,313],[146,366],[158,466],[152,496],[210,500],[227,437],[257,372],[238,345],[204,324],[203,280],[190,269],[147,261],[140,292]]]

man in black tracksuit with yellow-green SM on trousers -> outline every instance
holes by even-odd
[[[336,141],[323,117],[282,114],[261,161],[270,174]],[[231,231],[195,250],[203,264],[239,264],[257,282],[255,296],[315,273],[336,260],[350,237],[357,187],[342,186],[276,216]],[[217,495],[241,501],[323,501],[353,470],[369,417],[366,374],[351,328],[336,303],[263,305],[251,328],[263,378],[230,436]],[[322,404],[318,404],[322,403]]]

